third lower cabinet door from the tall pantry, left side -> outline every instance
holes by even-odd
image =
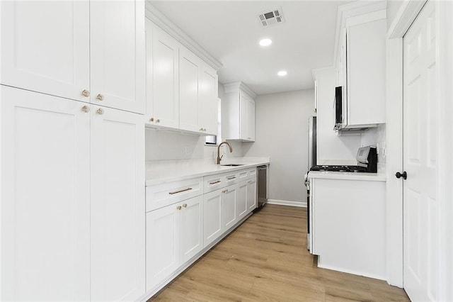
[[[222,235],[222,189],[203,195],[203,245]]]

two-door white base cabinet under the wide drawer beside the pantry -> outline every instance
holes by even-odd
[[[203,197],[147,213],[147,291],[203,248]]]

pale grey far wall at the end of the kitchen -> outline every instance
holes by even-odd
[[[256,141],[243,142],[246,157],[270,157],[268,198],[306,203],[308,121],[314,91],[266,94],[256,99]]]

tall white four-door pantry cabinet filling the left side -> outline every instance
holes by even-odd
[[[0,299],[135,300],[144,2],[2,1],[0,13]]]

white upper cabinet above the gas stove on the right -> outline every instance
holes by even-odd
[[[340,130],[386,122],[386,11],[370,9],[343,11],[336,69],[336,84],[343,86]]]

